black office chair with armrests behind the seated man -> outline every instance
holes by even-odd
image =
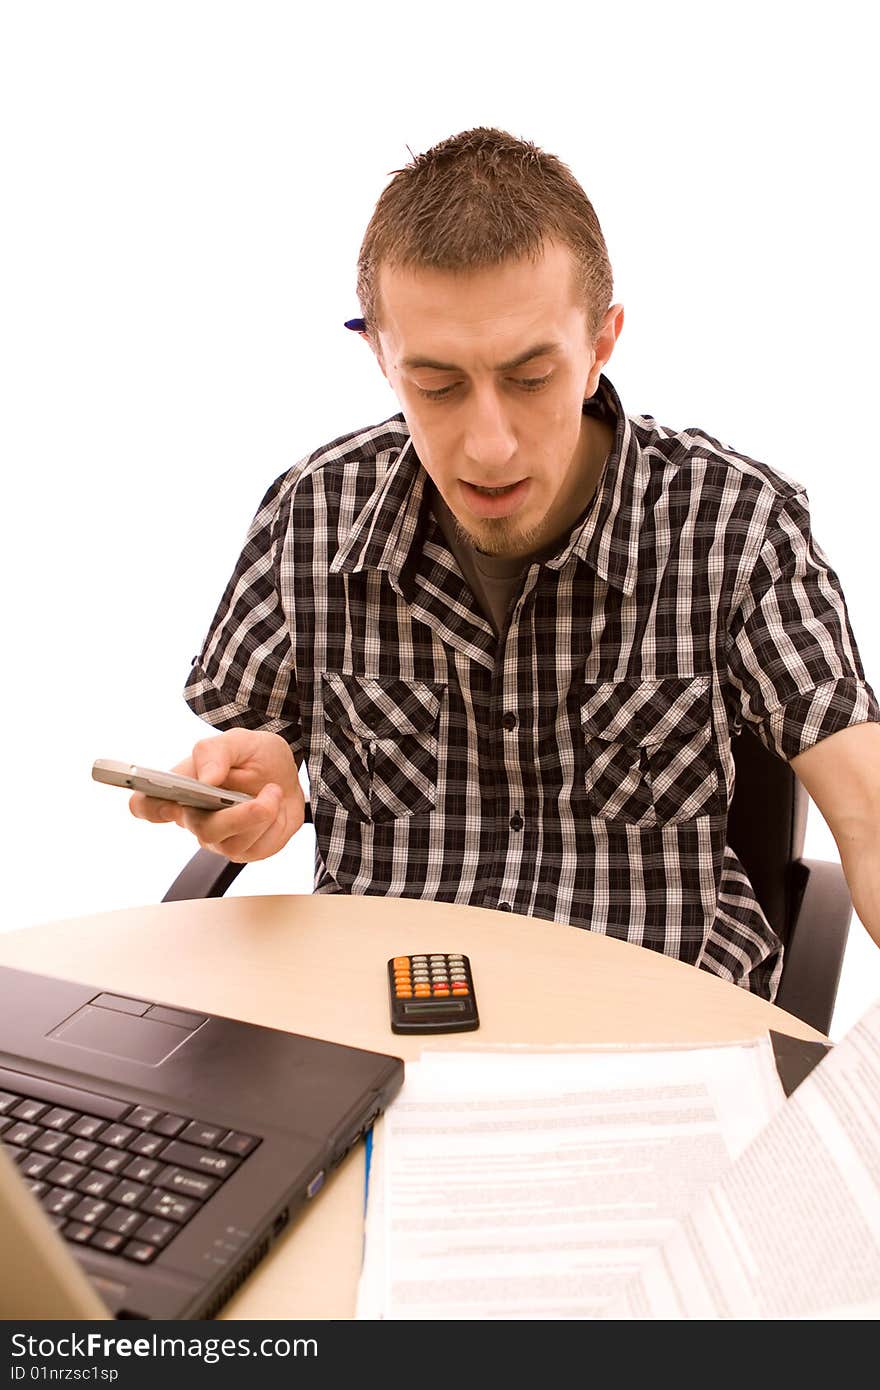
[[[847,880],[838,863],[801,858],[809,796],[788,763],[748,730],[733,749],[737,784],[727,838],[785,947],[776,1002],[827,1034],[852,916]],[[199,849],[163,902],[221,898],[243,867]]]

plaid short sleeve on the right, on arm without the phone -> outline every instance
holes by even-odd
[[[740,714],[791,759],[830,734],[880,720],[837,574],[815,542],[806,495],[774,506],[728,628]]]

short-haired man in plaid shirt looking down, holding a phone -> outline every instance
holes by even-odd
[[[477,129],[384,190],[353,321],[402,413],[270,488],[186,688],[178,764],[256,795],[133,796],[246,862],[303,823],[316,891],[513,909],[772,999],[780,942],[726,845],[730,735],[792,766],[880,941],[880,712],[801,488],[630,417],[595,213]]]

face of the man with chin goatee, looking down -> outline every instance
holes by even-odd
[[[581,407],[623,309],[589,342],[571,253],[557,243],[538,263],[466,274],[384,265],[380,291],[380,366],[462,530],[489,555],[555,539],[588,500],[598,434]]]

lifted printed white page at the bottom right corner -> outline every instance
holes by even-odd
[[[880,1002],[801,1083],[610,1318],[880,1315]]]

